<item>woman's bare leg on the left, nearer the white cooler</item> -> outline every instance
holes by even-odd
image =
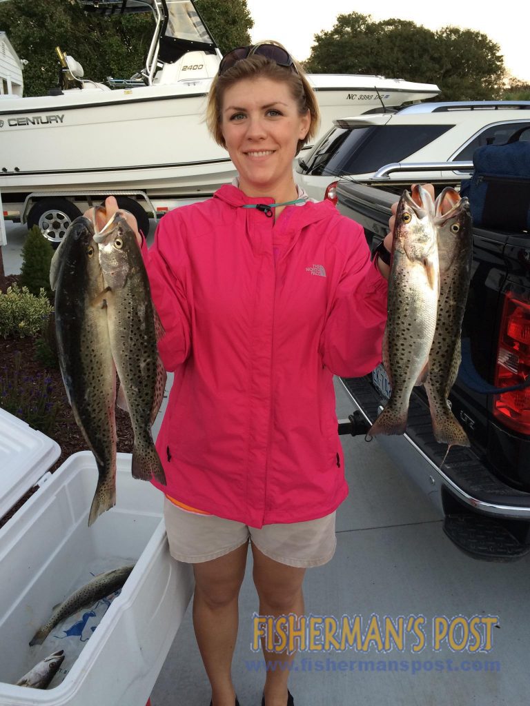
[[[245,576],[247,547],[245,542],[229,554],[193,565],[193,625],[211,683],[213,706],[234,706],[230,670],[237,639],[237,597]]]

